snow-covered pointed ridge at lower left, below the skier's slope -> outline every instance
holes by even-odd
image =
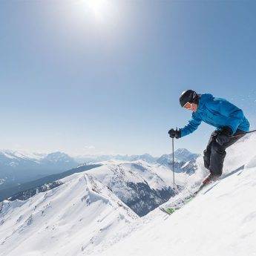
[[[137,218],[107,187],[88,174],[26,201],[4,201],[0,255],[82,255]]]

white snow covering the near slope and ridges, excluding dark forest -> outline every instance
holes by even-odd
[[[29,200],[4,201],[0,255],[256,255],[255,145],[252,134],[228,148],[223,179],[171,216],[155,209],[139,218],[103,184],[122,173],[156,187],[171,182],[167,168],[140,162],[105,163]],[[186,189],[166,206],[199,186],[207,174],[202,157],[197,165],[191,176],[177,176]]]

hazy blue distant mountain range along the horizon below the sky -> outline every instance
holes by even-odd
[[[188,150],[181,148],[175,151],[176,172],[191,173],[193,171],[194,160],[198,154],[192,154]],[[75,168],[82,163],[102,163],[109,160],[119,161],[144,161],[145,163],[158,163],[172,168],[171,154],[164,154],[161,157],[152,157],[150,154],[141,155],[101,155],[70,157],[63,152],[53,152],[50,154],[35,154],[22,151],[0,151],[0,190],[19,186],[31,180],[37,180],[50,174],[57,174]],[[189,163],[187,163],[189,162]],[[184,168],[184,166],[186,168]]]

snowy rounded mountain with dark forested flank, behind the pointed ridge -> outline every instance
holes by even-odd
[[[173,188],[173,173],[164,165],[142,160],[106,161],[101,164],[99,168],[87,173],[111,188],[139,216],[148,214],[176,193]],[[176,184],[181,188],[188,177],[186,173],[176,174]]]

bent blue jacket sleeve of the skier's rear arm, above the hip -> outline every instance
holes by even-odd
[[[220,114],[226,116],[226,126],[232,129],[233,134],[244,119],[243,111],[228,101],[220,102]]]

